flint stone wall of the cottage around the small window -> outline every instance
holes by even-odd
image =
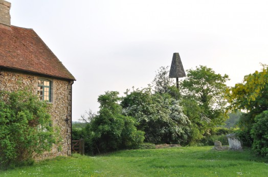
[[[62,142],[58,146],[54,145],[51,151],[36,157],[36,159],[71,155],[72,85],[69,81],[1,69],[0,90],[16,91],[28,89],[37,94],[38,79],[51,81],[51,103],[48,104],[52,104],[52,107],[49,113],[53,126],[60,129]],[[69,118],[68,124],[66,123],[66,118]]]

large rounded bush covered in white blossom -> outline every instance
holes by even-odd
[[[191,123],[180,102],[169,94],[152,94],[150,88],[137,89],[126,92],[121,105],[124,115],[137,119],[137,128],[145,132],[146,142],[187,143]]]

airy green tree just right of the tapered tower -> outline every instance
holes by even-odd
[[[216,74],[206,66],[187,70],[187,77],[181,83],[184,99],[194,100],[201,108],[200,119],[209,120],[209,126],[222,124],[226,117],[226,81],[228,75]]]

